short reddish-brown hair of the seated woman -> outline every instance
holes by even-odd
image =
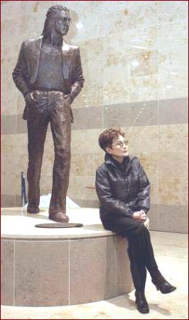
[[[110,128],[105,130],[103,133],[99,135],[99,146],[102,148],[102,150],[106,151],[106,148],[112,146],[113,140],[118,139],[119,135],[122,135],[124,137],[124,132],[118,128]]]

